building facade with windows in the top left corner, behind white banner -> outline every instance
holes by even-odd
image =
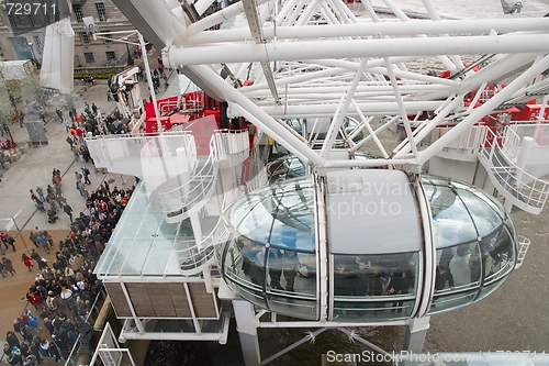
[[[75,67],[121,65],[127,59],[126,45],[114,40],[93,40],[86,32],[83,18],[92,16],[101,33],[133,30],[134,26],[110,0],[72,0],[70,22],[75,31]],[[34,12],[31,11],[31,12]],[[55,15],[54,15],[55,16]],[[45,40],[43,14],[16,13],[14,9],[0,11],[0,57],[2,60],[42,60]],[[42,22],[42,23],[41,23]]]

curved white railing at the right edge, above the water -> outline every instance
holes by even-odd
[[[502,195],[506,199],[513,200],[514,204],[522,209],[527,209],[525,204],[536,208],[536,211],[545,207],[549,182],[529,175],[505,159],[498,137],[491,130],[486,129],[486,138],[479,152],[479,158],[486,164],[486,171],[493,178],[492,182],[500,190],[503,189]]]

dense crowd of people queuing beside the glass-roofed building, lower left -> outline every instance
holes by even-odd
[[[56,362],[66,359],[78,334],[90,333],[86,318],[101,289],[93,268],[132,192],[133,188],[111,189],[103,182],[88,196],[87,212],[75,218],[69,235],[57,245],[47,231],[35,228],[31,232],[29,239],[35,247],[30,255],[22,254],[21,260],[29,270],[34,266],[38,269],[26,293],[29,306],[37,317],[25,309],[14,320],[4,346],[10,365],[40,364],[44,357]],[[55,251],[55,260],[49,264],[40,254],[42,251]],[[48,337],[37,335],[38,325],[47,329]]]

